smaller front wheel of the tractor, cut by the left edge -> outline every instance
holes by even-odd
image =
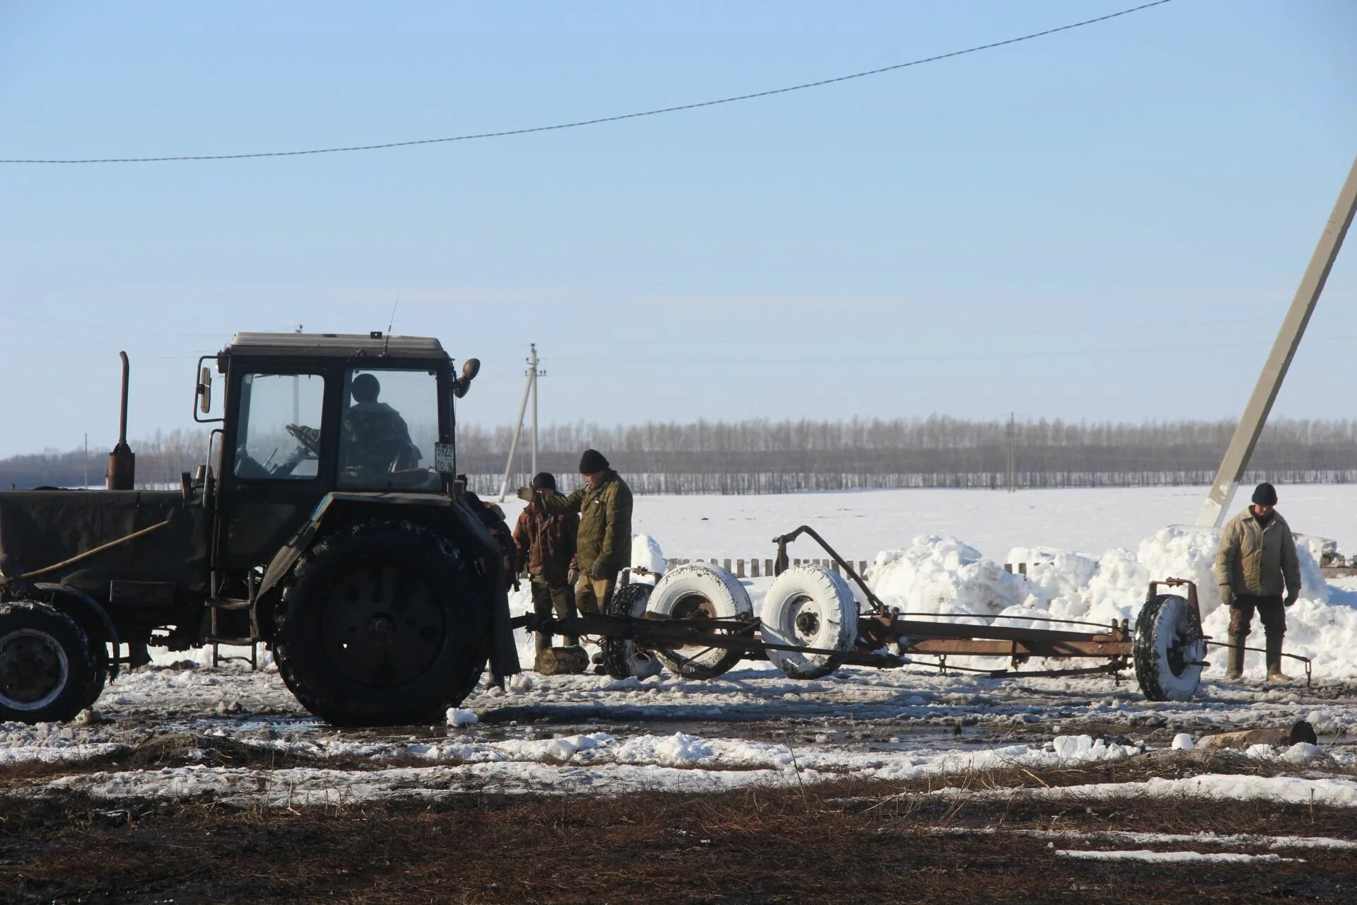
[[[0,604],[0,722],[68,720],[94,681],[90,640],[75,620],[46,604]]]

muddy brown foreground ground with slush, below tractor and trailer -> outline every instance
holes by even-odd
[[[1352,809],[1022,794],[1151,776],[1320,775],[1243,753],[1170,750],[1179,731],[1315,714],[1339,727],[1323,739],[1337,756],[1322,775],[1350,779],[1357,758],[1342,730],[1357,722],[1350,685],[1208,685],[1198,701],[1162,706],[1110,680],[845,672],[788,688],[767,673],[650,691],[563,677],[518,695],[468,699],[479,715],[472,726],[341,731],[300,712],[275,673],[142,670],[106,693],[98,722],[33,730],[69,742],[52,748],[62,757],[0,763],[0,902],[1357,901]],[[586,794],[565,784],[506,791],[467,776],[440,780],[438,796],[337,795],[332,803],[293,805],[174,786],[212,771],[267,777],[323,768],[360,777],[406,765],[418,784],[419,771],[457,756],[430,767],[411,752],[449,739],[521,744],[600,731],[619,744],[673,733],[767,742],[803,758],[1039,748],[1056,734],[1144,753],[902,782],[866,780],[845,768],[802,783],[797,767],[775,786],[700,792],[631,786],[616,794],[601,767]],[[12,730],[12,752],[24,739],[46,745],[24,733]],[[589,768],[574,763],[551,767],[563,777]],[[741,769],[707,772],[738,779]],[[133,773],[164,776],[164,794],[123,795],[107,783],[96,794],[79,782]],[[1144,851],[1212,860],[1090,856]]]

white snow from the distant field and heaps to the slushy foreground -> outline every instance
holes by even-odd
[[[1281,494],[1280,510],[1297,531],[1338,539],[1349,551],[1357,544],[1350,522],[1357,488],[1284,487]],[[870,581],[887,602],[985,621],[1015,613],[1133,621],[1149,577],[1174,574],[1205,583],[1206,631],[1224,636],[1225,613],[1209,593],[1213,535],[1166,529],[1190,521],[1198,502],[1197,490],[643,497],[636,529],[654,543],[643,539],[635,551],[638,562],[654,559],[655,545],[669,556],[767,556],[773,533],[805,522],[845,555],[868,559]],[[512,518],[517,501],[505,507]],[[1011,575],[1000,563],[1014,556],[1042,564],[1027,578]],[[204,653],[189,659],[161,653],[156,665],[110,685],[84,725],[0,726],[0,765],[62,765],[7,782],[0,794],[301,806],[467,791],[721,791],[835,779],[936,777],[947,787],[974,771],[1172,757],[1204,734],[1308,719],[1320,745],[1247,752],[1269,776],[1208,772],[1088,794],[1357,807],[1350,776],[1357,772],[1350,745],[1357,585],[1326,583],[1308,552],[1303,559],[1307,586],[1289,613],[1288,650],[1315,659],[1308,688],[1303,681],[1259,685],[1258,655],[1251,655],[1248,681],[1224,684],[1219,654],[1187,703],[1147,701],[1130,673],[1120,681],[989,678],[943,676],[920,663],[841,669],[809,682],[757,663],[706,682],[668,673],[643,681],[525,673],[506,692],[478,691],[445,726],[341,731],[304,714],[271,666],[212,670]],[[749,582],[756,611],[765,588],[767,579]],[[513,606],[527,609],[525,590]],[[529,636],[521,636],[520,650],[531,665]],[[1303,676],[1299,663],[1288,669]],[[179,763],[98,767],[166,739],[183,745]],[[273,752],[289,765],[223,765],[208,756],[220,745]]]

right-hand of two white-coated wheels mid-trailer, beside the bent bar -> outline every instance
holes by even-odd
[[[791,678],[822,678],[858,642],[858,601],[848,582],[824,566],[792,566],[768,588],[759,623],[765,642],[833,650],[768,650],[768,662]]]

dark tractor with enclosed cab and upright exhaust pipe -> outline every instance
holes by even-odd
[[[432,338],[237,334],[195,370],[206,461],[136,490],[123,354],[107,488],[0,491],[0,722],[71,719],[148,644],[263,643],[339,726],[441,719],[487,662],[518,672],[512,539],[456,469],[478,369]]]

